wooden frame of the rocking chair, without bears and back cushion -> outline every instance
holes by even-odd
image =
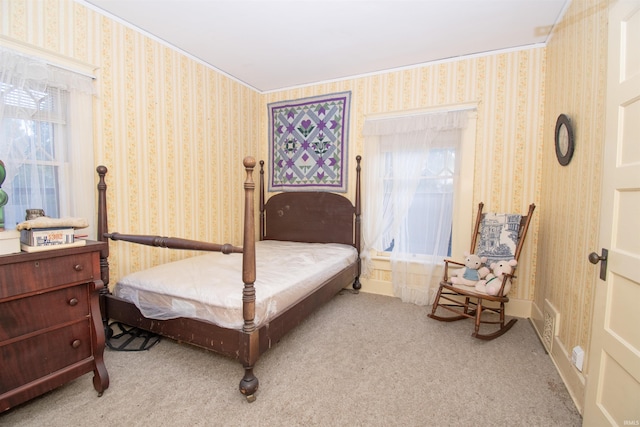
[[[487,233],[487,227],[481,227],[483,225],[483,220],[488,215],[482,213],[483,207],[484,203],[480,203],[478,205],[478,214],[476,216],[470,253],[480,254],[482,253],[483,248],[486,248],[487,246],[493,246],[495,248],[495,245],[490,245],[487,244],[487,242],[481,241],[481,234],[483,229],[485,230],[485,234],[491,234]],[[531,217],[533,215],[534,209],[535,205],[532,203],[531,205],[529,205],[529,211],[527,215],[523,215],[522,217],[520,217],[517,239],[515,239],[515,248],[512,256],[510,257],[512,259],[515,259],[516,261],[520,257],[520,252],[522,251],[524,239],[529,229],[529,223],[531,222]],[[509,225],[506,224],[504,227],[509,228]],[[499,253],[500,251],[498,250],[497,252]],[[500,258],[500,256],[498,257]],[[511,329],[511,327],[516,323],[517,319],[511,319],[508,323],[505,324],[505,303],[509,301],[509,297],[507,297],[506,295],[507,292],[505,292],[505,286],[509,281],[515,278],[513,273],[505,274],[503,276],[500,291],[497,293],[497,295],[489,295],[487,293],[476,290],[474,287],[454,285],[453,283],[451,283],[449,279],[449,266],[453,265],[455,268],[461,268],[464,267],[464,264],[449,259],[445,259],[444,263],[444,277],[440,282],[435,302],[433,303],[431,313],[428,315],[429,317],[444,322],[453,322],[456,320],[467,318],[475,319],[475,330],[472,336],[483,340],[492,340]],[[488,302],[489,305],[485,305],[485,301]],[[456,315],[438,315],[436,314],[438,308],[451,311]],[[496,320],[495,317],[494,319],[487,319],[487,316],[483,317],[483,314],[485,312],[489,312],[489,314],[497,314],[499,316],[499,320]],[[494,324],[498,325],[499,328],[493,333],[483,334],[480,332],[481,324]]]

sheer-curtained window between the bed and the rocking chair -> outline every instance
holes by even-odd
[[[428,304],[443,259],[469,247],[475,111],[367,118],[363,134],[363,276],[386,259],[394,295]]]

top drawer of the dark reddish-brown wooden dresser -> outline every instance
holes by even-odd
[[[52,251],[53,252],[53,251]],[[17,262],[0,266],[0,299],[93,280],[92,253]]]

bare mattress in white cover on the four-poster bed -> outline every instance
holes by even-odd
[[[260,327],[357,259],[338,243],[256,242],[255,324]],[[242,254],[210,252],[123,277],[113,289],[151,319],[191,317],[242,329]]]

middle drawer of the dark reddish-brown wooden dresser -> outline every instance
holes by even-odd
[[[0,304],[0,342],[89,316],[89,285]]]

